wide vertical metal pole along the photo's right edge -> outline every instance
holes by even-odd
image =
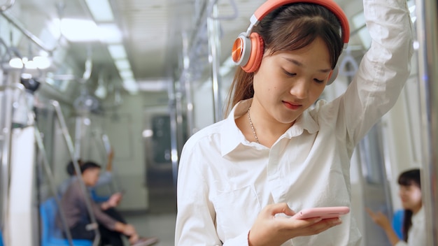
[[[418,75],[421,86],[423,173],[421,189],[428,245],[438,245],[438,6],[417,0]]]

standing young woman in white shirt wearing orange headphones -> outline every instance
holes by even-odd
[[[372,46],[346,92],[315,107],[348,42],[344,13],[329,0],[268,0],[257,9],[248,34],[234,43],[241,67],[231,112],[183,148],[176,245],[360,244],[351,215],[342,222],[290,216],[351,205],[353,150],[409,76],[406,5],[364,0]]]

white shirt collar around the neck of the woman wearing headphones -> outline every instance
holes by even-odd
[[[252,101],[253,99],[246,99],[236,103],[228,117],[225,119],[224,124],[222,124],[220,129],[222,156],[232,152],[232,150],[234,150],[238,145],[253,145],[254,147],[260,148],[263,147],[262,145],[251,143],[246,140],[245,136],[243,136],[243,133],[236,125],[236,118],[246,114]],[[309,113],[309,110],[304,111],[304,113],[297,118],[295,124],[290,126],[290,128],[280,138],[292,138],[299,136],[304,132],[304,129],[309,133],[315,133],[319,130],[319,125],[313,119]]]

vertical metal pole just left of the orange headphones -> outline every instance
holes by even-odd
[[[216,1],[217,2],[217,1]],[[219,40],[219,20],[218,16],[218,3],[213,4],[211,8],[212,13],[208,13],[207,17],[207,30],[209,35],[209,51],[210,51],[210,63],[211,63],[211,81],[213,90],[213,112],[214,122],[222,120],[222,99],[220,95],[220,40]]]

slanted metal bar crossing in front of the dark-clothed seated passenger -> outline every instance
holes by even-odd
[[[58,101],[52,100],[52,101],[50,101],[50,103],[55,108],[55,112],[57,114],[59,124],[61,125],[61,131],[62,131],[62,134],[64,136],[64,140],[66,141],[67,147],[69,149],[69,154],[70,154],[71,160],[73,161],[73,167],[74,167],[77,175],[79,175],[80,168],[79,168],[79,163],[75,158],[73,140],[71,140],[69,129],[67,129],[67,124],[66,124],[66,121],[64,119],[64,115],[62,114],[61,107],[59,106]],[[89,196],[87,196],[88,193],[87,193],[87,187],[85,187],[85,182],[83,181],[82,178],[80,178],[80,176],[78,177],[78,180],[80,180],[80,182],[79,182],[80,188],[82,189],[83,194],[85,196],[85,206],[87,207],[87,212],[90,215],[90,220],[91,220],[91,224],[89,224],[87,227],[88,227],[88,229],[94,229],[94,231],[96,232],[95,237],[94,237],[94,241],[93,241],[93,246],[97,246],[97,245],[99,245],[100,233],[98,230],[98,224],[96,221],[96,217],[94,217],[94,213],[93,213],[92,207],[91,207],[91,201],[89,199]]]

